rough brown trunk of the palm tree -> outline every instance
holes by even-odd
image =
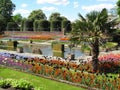
[[[93,73],[96,73],[98,71],[98,55],[99,55],[99,39],[95,38],[95,41],[92,44],[92,67],[93,67]]]

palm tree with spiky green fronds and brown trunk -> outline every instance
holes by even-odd
[[[92,54],[93,71],[98,71],[99,46],[108,37],[113,29],[113,21],[108,22],[108,13],[106,9],[102,11],[92,11],[84,18],[79,14],[80,19],[73,23],[71,41],[80,42],[82,45],[89,45]]]

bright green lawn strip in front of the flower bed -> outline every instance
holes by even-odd
[[[0,78],[13,78],[17,80],[25,79],[31,82],[35,87],[44,87],[46,90],[85,90],[80,87],[75,87],[65,83],[60,83],[3,67],[0,67]]]

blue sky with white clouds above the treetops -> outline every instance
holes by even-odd
[[[54,12],[67,17],[70,21],[78,19],[78,14],[85,16],[90,11],[110,10],[116,6],[117,0],[11,0],[15,5],[13,15],[20,13],[28,17],[33,10],[41,9],[47,19]]]

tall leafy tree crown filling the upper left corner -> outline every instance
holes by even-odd
[[[7,25],[7,22],[11,21],[11,16],[14,10],[15,4],[13,4],[11,0],[0,1],[0,15],[4,17],[5,27]]]

